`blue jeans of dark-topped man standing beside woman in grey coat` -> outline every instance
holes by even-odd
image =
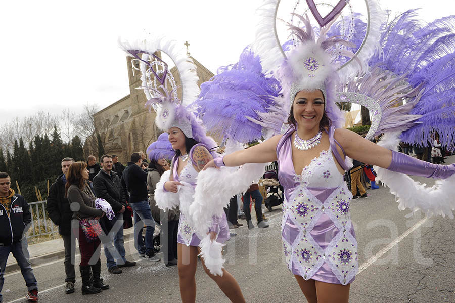
[[[152,218],[149,201],[131,203],[134,215],[134,247],[139,254],[153,251],[153,233],[155,232],[155,221]],[[142,230],[146,227],[145,245],[142,240]]]

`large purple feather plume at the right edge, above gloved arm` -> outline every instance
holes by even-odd
[[[413,90],[419,90],[415,97],[407,98],[406,106],[414,105],[412,109],[407,106],[407,110],[410,110],[408,115],[421,117],[403,132],[401,140],[428,146],[433,142],[431,136],[439,133],[442,146],[453,149],[455,16],[424,24],[417,10],[408,10],[388,24],[383,24],[383,29],[380,40],[382,51],[370,60],[370,66],[380,66],[405,76],[403,80]],[[386,118],[389,121],[400,119],[402,107],[391,108],[395,112],[389,112]]]

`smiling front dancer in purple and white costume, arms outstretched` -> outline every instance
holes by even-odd
[[[376,9],[373,7],[374,3],[369,3],[370,11]],[[275,7],[271,11],[275,11]],[[352,194],[343,181],[344,172],[350,166],[348,157],[376,165],[378,177],[384,176],[386,185],[391,189],[393,189],[393,185],[390,184],[392,183],[390,179],[401,182],[402,178],[408,178],[405,174],[448,179],[447,185],[444,185],[446,187],[443,187],[441,181],[438,189],[425,191],[426,198],[432,195],[434,195],[433,197],[443,195],[443,192],[448,189],[447,186],[453,187],[455,164],[444,166],[420,161],[393,150],[399,140],[395,140],[395,146],[389,149],[372,143],[347,129],[342,129],[342,115],[335,104],[335,102],[343,101],[343,98],[340,100],[340,95],[337,95],[336,92],[336,85],[340,82],[340,69],[333,64],[334,60],[331,60],[328,51],[335,43],[343,42],[338,38],[327,38],[326,36],[335,20],[328,20],[324,24],[325,27],[321,26],[320,38],[317,39],[309,20],[299,17],[304,23],[304,28],[292,25],[290,27],[293,37],[299,40],[300,44],[286,53],[285,59],[274,73],[283,88],[282,94],[285,103],[281,108],[288,109],[285,128],[283,128],[284,134],[283,132],[279,134],[280,131],[275,128],[275,133],[279,135],[272,136],[251,148],[211,160],[204,170],[209,167],[220,169],[218,171],[207,169],[207,175],[205,175],[206,171],[201,172],[198,180],[201,184],[202,180],[213,179],[214,176],[223,174],[223,171],[227,172],[228,168],[223,166],[247,166],[254,165],[247,163],[278,161],[279,180],[285,190],[282,239],[287,267],[294,274],[308,302],[348,302],[350,283],[358,271],[357,242],[349,214]],[[378,36],[375,37],[374,30],[370,30],[370,39],[373,37],[377,42]],[[378,33],[379,30],[376,34]],[[351,44],[346,43],[345,45],[353,48]],[[352,55],[353,53],[348,52],[341,54],[344,57],[353,57]],[[360,59],[365,60],[366,58]],[[370,71],[371,73],[362,74],[363,79],[376,72],[373,68]],[[389,75],[383,77],[388,80]],[[362,77],[358,76],[356,79],[361,81]],[[397,82],[402,80],[399,75],[396,76],[396,79]],[[231,84],[233,82],[235,81],[230,81]],[[243,83],[244,79],[242,78],[239,82]],[[396,82],[394,83],[397,85]],[[346,86],[343,85],[343,87]],[[410,90],[408,90],[409,88]],[[389,89],[392,91],[392,86]],[[401,87],[390,95],[387,95],[387,90],[383,90],[384,92],[381,91],[383,95],[379,97],[387,97],[388,100],[399,99],[398,97],[403,96],[410,97],[409,92],[412,90],[411,86]],[[364,98],[369,94],[363,92],[363,95],[346,94],[345,96],[360,99],[360,96]],[[378,99],[379,97],[376,96]],[[407,110],[404,112],[409,113],[412,106],[407,105],[402,108],[406,108]],[[382,106],[381,109],[386,112],[388,107]],[[268,111],[272,113],[273,110],[269,108]],[[283,112],[283,110],[281,111]],[[274,117],[277,117],[279,112],[280,109],[277,109]],[[267,113],[260,112],[257,114],[262,118],[257,119],[257,124],[267,124],[267,117],[271,115],[267,116]],[[383,128],[376,128],[378,132],[409,129],[411,126],[406,128],[404,126],[406,123],[411,125],[413,121],[422,117],[400,114],[404,121],[402,125],[395,123],[387,128],[384,124],[379,124]],[[383,118],[383,123],[384,120]],[[451,132],[453,133],[453,129]],[[387,179],[387,174],[392,174],[392,177],[389,176]],[[398,184],[403,185],[408,180],[410,178]],[[228,180],[225,180],[225,183],[228,183]],[[399,190],[395,193],[401,209],[409,207],[413,210],[422,209],[427,213],[448,214],[453,217],[451,210],[454,205],[453,201],[448,200],[449,197],[444,197],[443,202],[435,202],[437,205],[432,206],[428,205],[433,201],[426,201],[426,204],[419,204],[420,201],[412,204],[408,201],[418,199],[415,197],[416,191],[412,186],[413,184],[410,185],[411,189],[406,187],[406,190],[412,193],[411,195]],[[206,191],[208,187],[206,186]],[[219,190],[222,191],[222,189]],[[203,191],[204,189],[201,189],[201,192]],[[227,192],[226,196],[230,194],[232,193]],[[406,196],[406,194],[408,195]],[[199,191],[196,188],[196,204],[202,200],[198,196]],[[190,209],[190,213],[193,220],[197,221],[197,212]],[[193,213],[195,214],[193,215]]]

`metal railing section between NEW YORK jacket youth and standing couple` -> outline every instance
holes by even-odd
[[[28,229],[27,238],[55,234],[59,232],[58,227],[51,221],[46,212],[46,201],[28,203],[30,206],[31,226]]]

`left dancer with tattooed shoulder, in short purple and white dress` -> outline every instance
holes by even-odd
[[[213,159],[213,156],[206,145],[198,143],[193,138],[188,138],[182,129],[177,126],[169,128],[169,141],[172,149],[176,151],[176,155],[172,159],[170,175],[164,175],[157,185],[156,192],[161,192],[161,194],[155,196],[155,198],[157,203],[161,202],[160,199],[166,199],[162,194],[163,191],[167,192],[167,194],[174,193],[178,195],[180,210],[182,210],[177,234],[177,266],[180,294],[183,302],[194,302],[196,299],[196,266],[198,255],[201,253],[204,243],[202,235],[196,233],[192,223],[184,214],[187,213],[188,215],[188,207],[193,199],[192,193],[194,193],[194,190],[190,189],[190,187],[196,186],[198,172],[208,161]],[[230,238],[228,221],[224,212],[222,217],[214,217],[212,219],[209,235],[209,241],[217,243],[223,243]],[[202,253],[202,256],[201,262],[204,271],[218,284],[224,294],[232,302],[245,302],[240,286],[234,277],[224,268],[220,272],[210,271],[205,263],[212,261],[209,260],[207,254]]]

